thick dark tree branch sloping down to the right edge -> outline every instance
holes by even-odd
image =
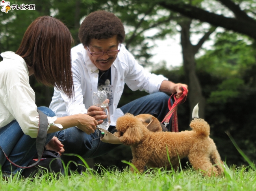
[[[166,9],[181,13],[184,16],[195,18],[202,22],[208,22],[213,26],[224,27],[225,29],[233,30],[256,39],[256,21],[251,22],[251,20],[245,21],[237,18],[228,18],[183,3],[167,4],[166,2],[160,2],[159,4]]]

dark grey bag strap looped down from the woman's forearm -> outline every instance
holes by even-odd
[[[43,151],[45,148],[46,135],[47,135],[48,119],[47,119],[47,115],[45,115],[42,111],[37,109],[37,112],[39,114],[39,128],[38,128],[38,134],[37,134],[37,140],[36,140],[37,154],[39,156],[37,162],[31,164],[30,166],[19,166],[19,165],[15,164],[14,162],[11,162],[11,160],[8,158],[6,153],[4,153],[4,150],[0,146],[0,149],[2,149],[7,160],[9,160],[9,162],[11,164],[13,164],[14,166],[17,166],[19,168],[30,168],[32,166],[35,166],[36,164],[38,164],[40,162],[42,155],[43,155]]]

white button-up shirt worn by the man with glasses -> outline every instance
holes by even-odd
[[[54,89],[50,109],[57,117],[87,113],[87,109],[93,105],[93,92],[98,90],[98,68],[91,62],[82,44],[71,49],[71,57],[75,96],[70,100],[61,91]],[[159,92],[163,80],[168,79],[145,71],[122,45],[121,51],[111,65],[113,94],[113,104],[109,107],[111,125],[115,126],[117,118],[124,115],[120,109],[117,109],[117,105],[125,83],[133,91],[139,89],[151,94]]]

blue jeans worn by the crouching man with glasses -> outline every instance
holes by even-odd
[[[151,114],[158,118],[161,122],[165,115],[169,112],[168,100],[169,96],[165,93],[154,93],[134,100],[120,109],[123,113],[131,113],[139,115],[143,113]],[[171,124],[171,123],[169,123]],[[167,127],[170,130],[170,126]],[[109,132],[114,133],[115,126],[109,126]],[[100,141],[100,136],[95,133],[87,135],[76,127],[70,127],[63,131],[58,131],[56,136],[64,145],[65,153],[75,153],[82,156],[84,159],[95,158],[104,155],[119,145],[104,143]],[[61,158],[67,164],[70,160],[79,163],[75,156],[62,155]],[[76,169],[74,164],[70,164],[70,169]]]

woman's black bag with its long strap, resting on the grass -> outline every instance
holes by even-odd
[[[36,172],[39,169],[39,166],[48,167],[49,168],[49,172],[63,172],[63,167],[62,164],[61,166],[58,164],[58,166],[56,166],[56,168],[52,168],[53,165],[50,165],[53,163],[52,159],[56,158],[56,162],[57,163],[61,163],[60,160],[60,156],[59,153],[55,152],[55,151],[44,151],[45,149],[45,141],[46,141],[46,135],[47,135],[47,127],[48,127],[48,119],[47,116],[40,110],[37,109],[37,112],[39,114],[39,128],[38,128],[38,134],[37,134],[37,139],[36,139],[36,148],[37,148],[37,154],[33,157],[33,159],[29,162],[28,166],[19,166],[17,164],[15,164],[14,162],[12,162],[8,156],[6,155],[6,153],[4,152],[4,150],[2,149],[2,147],[0,146],[0,149],[3,151],[4,155],[6,156],[7,160],[13,164],[14,166],[17,166],[19,168],[24,168],[24,171],[21,173],[22,176],[24,175],[28,175],[30,176],[31,173],[26,173],[26,170],[31,168],[29,171],[31,172]],[[56,154],[57,153],[57,154]],[[45,155],[44,155],[45,154]],[[44,156],[43,156],[44,155]],[[43,158],[45,157],[45,158]],[[49,160],[46,160],[49,159]],[[45,161],[44,161],[45,160]],[[55,160],[54,160],[55,161]],[[56,162],[54,162],[54,164],[56,164]],[[46,165],[48,163],[48,165]],[[57,167],[59,167],[59,169],[57,170]],[[54,171],[52,171],[52,169],[54,169]],[[26,177],[28,177],[26,176]],[[25,176],[24,176],[25,177]]]

